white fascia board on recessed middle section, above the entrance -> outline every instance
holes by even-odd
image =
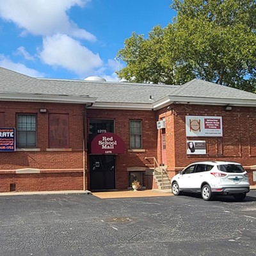
[[[95,102],[90,109],[152,110],[151,103]]]

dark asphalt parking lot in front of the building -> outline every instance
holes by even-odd
[[[0,255],[255,255],[256,191],[102,199],[0,196]]]

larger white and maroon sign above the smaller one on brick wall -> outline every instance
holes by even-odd
[[[222,137],[221,116],[186,116],[187,137]]]

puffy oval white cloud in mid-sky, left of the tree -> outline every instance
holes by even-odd
[[[95,68],[103,65],[99,54],[61,34],[45,37],[39,56],[47,65],[67,68],[79,76],[91,76]]]

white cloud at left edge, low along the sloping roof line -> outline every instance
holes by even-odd
[[[22,63],[14,63],[10,58],[0,54],[0,66],[31,77],[44,77],[44,74],[35,69],[28,68]]]

